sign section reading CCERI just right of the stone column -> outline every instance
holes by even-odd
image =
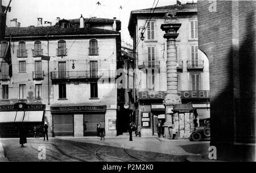
[[[209,91],[178,91],[181,99],[209,99]]]

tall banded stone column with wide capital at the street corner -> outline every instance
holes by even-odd
[[[181,104],[181,98],[177,95],[177,59],[176,59],[176,38],[179,36],[181,23],[177,18],[166,17],[161,29],[165,31],[164,38],[167,39],[167,96],[164,99],[166,106],[166,123],[164,123],[164,136],[172,138],[172,109],[175,104]]]

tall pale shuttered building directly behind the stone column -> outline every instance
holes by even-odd
[[[167,91],[167,44],[160,28],[165,15],[176,10],[181,23],[176,39],[178,93],[182,103],[192,104],[200,119],[209,118],[209,62],[198,49],[197,4],[181,4],[131,11],[129,32],[136,54],[138,107],[136,123],[142,125],[142,136],[156,133],[159,120],[165,121],[163,100]],[[181,122],[182,121],[182,122]],[[183,123],[184,121],[184,123]],[[188,137],[185,117],[179,117],[180,138]],[[190,122],[190,121],[188,121]],[[182,128],[183,126],[183,128]]]

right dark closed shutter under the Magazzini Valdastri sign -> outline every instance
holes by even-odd
[[[97,136],[97,124],[105,123],[104,114],[84,115],[84,136]]]

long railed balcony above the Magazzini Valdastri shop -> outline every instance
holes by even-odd
[[[115,78],[115,71],[52,71],[51,80],[56,82],[93,81],[99,78]]]

